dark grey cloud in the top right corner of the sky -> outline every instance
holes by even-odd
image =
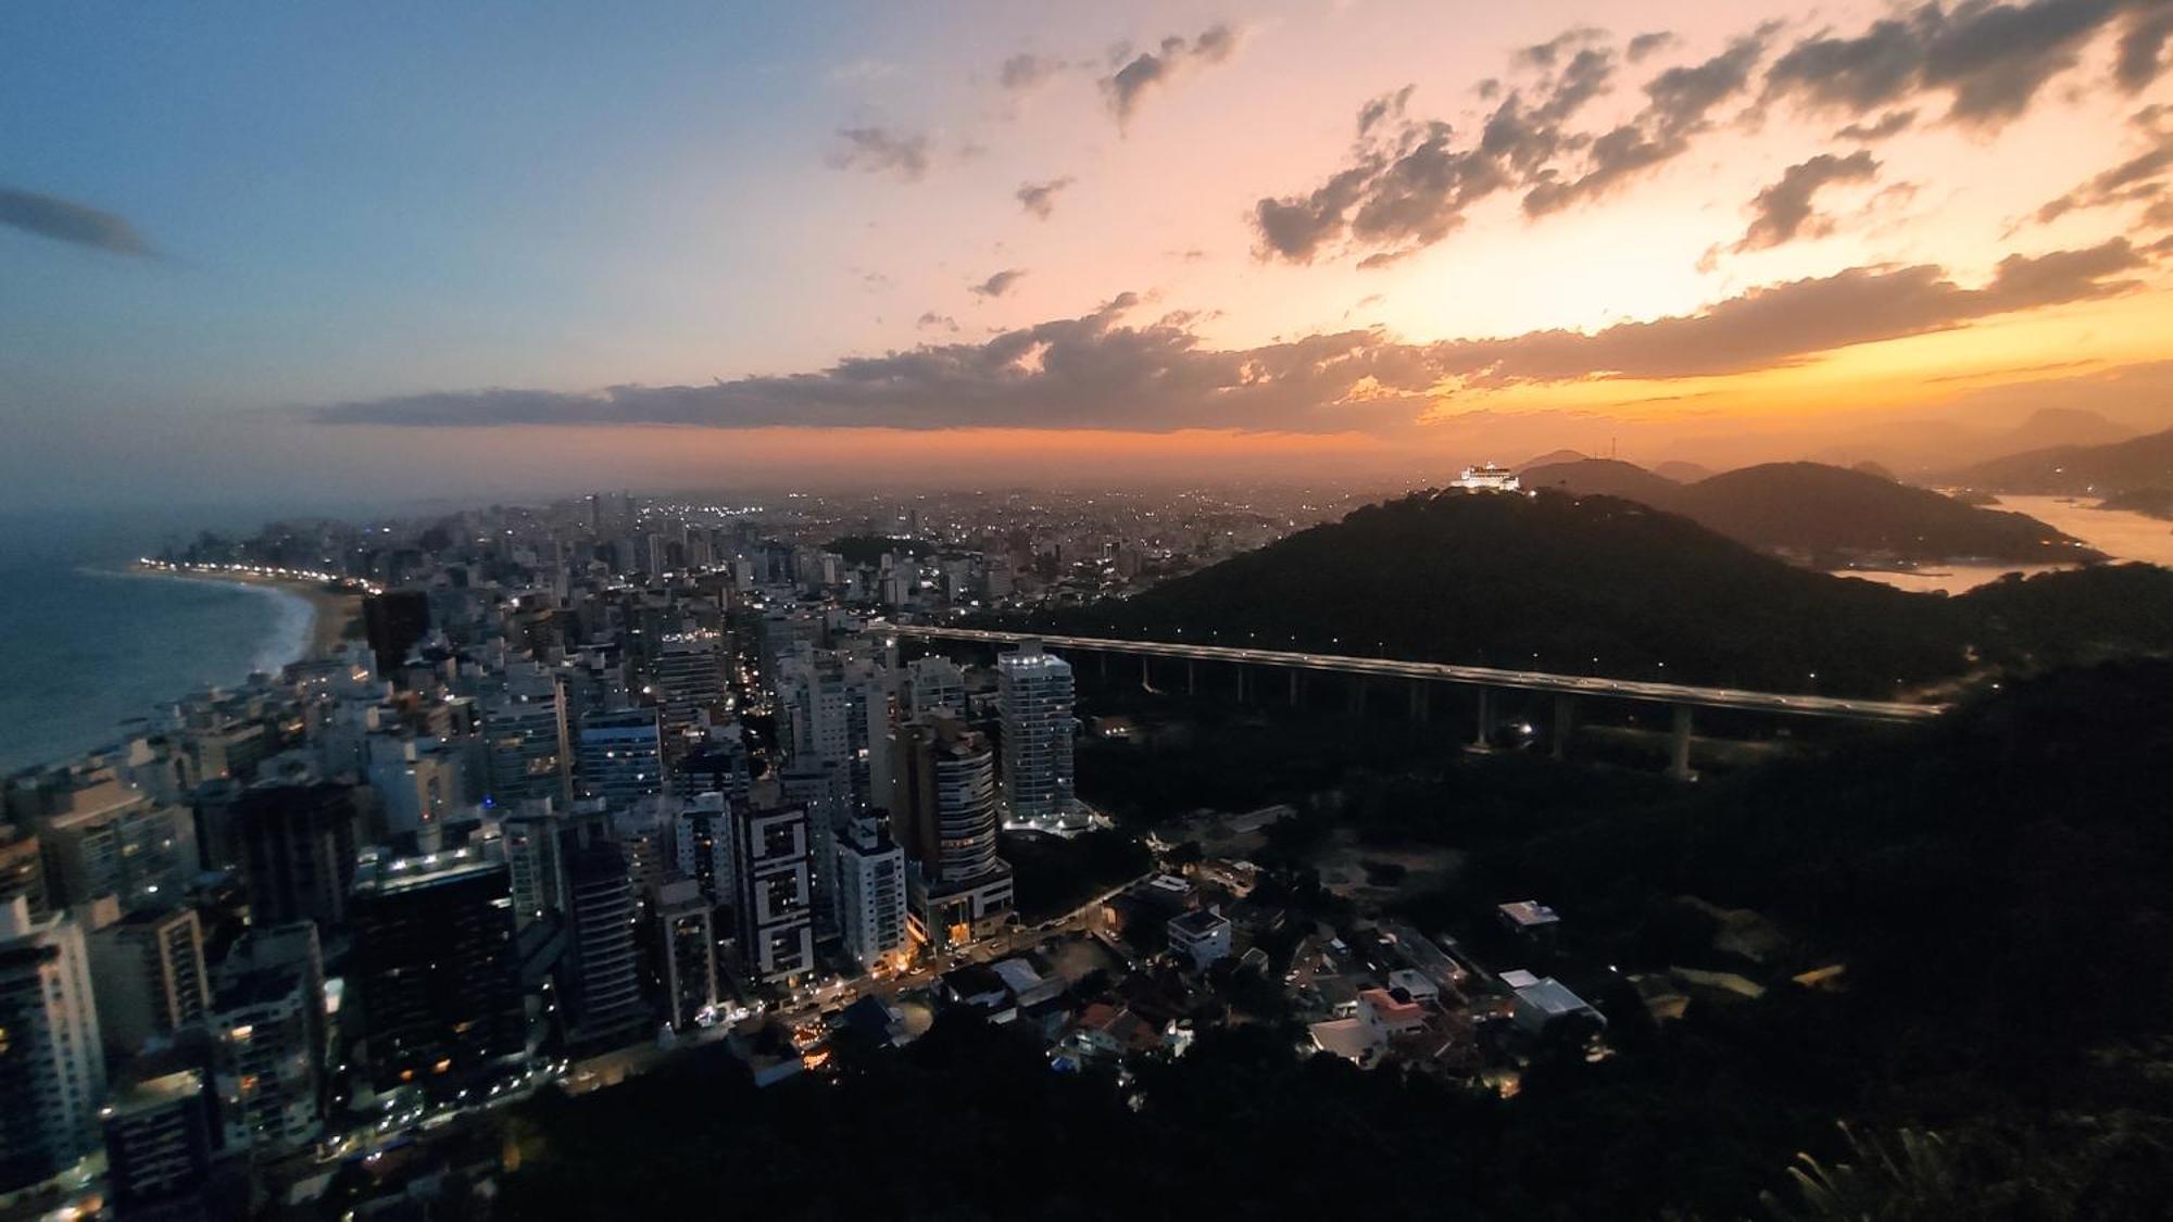
[[[1997,128],[2112,26],[2123,28],[2119,80],[2143,89],[2158,78],[2158,52],[2173,33],[2162,0],[1964,0],[1917,7],[1854,37],[1806,37],[1773,61],[1767,96],[1862,115],[1945,93],[1951,122]]]

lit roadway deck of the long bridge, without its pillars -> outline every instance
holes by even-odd
[[[1741,687],[1697,687],[1691,683],[1645,683],[1638,678],[1599,678],[1584,674],[1552,674],[1545,670],[1499,670],[1491,665],[1454,665],[1441,661],[1393,661],[1378,657],[1315,654],[1293,650],[1252,650],[1234,646],[1191,646],[1173,641],[1123,641],[1113,637],[1065,637],[1056,633],[991,633],[982,628],[939,628],[932,624],[891,624],[900,637],[932,641],[978,641],[1015,646],[1041,641],[1050,648],[1115,652],[1132,657],[1167,657],[1182,661],[1221,661],[1241,665],[1273,665],[1284,670],[1319,670],[1330,674],[1365,674],[1378,678],[1415,678],[1423,683],[1462,683],[1469,687],[1512,687],[1554,691],[1558,696],[1606,696],[1615,700],[1647,700],[1697,709],[1749,709],[1797,718],[1838,718],[1849,722],[1923,722],[1947,711],[1947,704],[1904,704],[1897,700],[1849,700],[1841,696],[1782,696]]]

